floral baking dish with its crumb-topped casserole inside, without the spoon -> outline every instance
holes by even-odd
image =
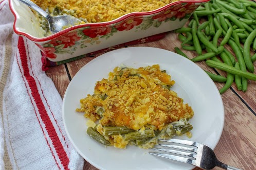
[[[54,34],[47,32],[43,19],[26,5],[17,0],[9,0],[9,5],[15,17],[14,32],[32,40],[50,61],[63,61],[181,28],[208,1],[33,0],[52,15],[82,20]]]

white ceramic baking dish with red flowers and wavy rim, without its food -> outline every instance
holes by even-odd
[[[198,6],[208,1],[176,1],[153,11],[131,12],[114,20],[80,24],[51,35],[45,34],[29,7],[17,0],[9,0],[9,5],[15,17],[14,32],[32,40],[50,61],[62,61],[178,29]]]

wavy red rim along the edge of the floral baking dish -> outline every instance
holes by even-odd
[[[170,6],[173,6],[173,5],[177,5],[177,4],[180,4],[180,3],[206,3],[210,0],[193,0],[193,1],[190,1],[190,0],[184,0],[184,1],[176,1],[176,2],[173,2],[173,3],[170,3],[166,6],[163,6],[161,8],[158,8],[156,10],[153,10],[153,11],[149,11],[149,12],[132,12],[132,13],[129,13],[129,14],[125,14],[123,16],[120,16],[119,18],[117,19],[114,19],[114,20],[111,20],[109,22],[103,22],[103,23],[89,23],[89,24],[81,24],[81,25],[77,25],[77,26],[73,26],[73,27],[69,27],[69,28],[66,28],[58,33],[55,33],[55,34],[52,34],[52,35],[49,35],[49,36],[46,36],[46,37],[42,37],[42,38],[36,38],[36,37],[33,37],[25,32],[21,32],[21,31],[18,31],[15,27],[16,25],[16,20],[17,20],[17,14],[14,12],[13,8],[12,8],[12,3],[11,1],[13,0],[9,0],[9,6],[10,6],[10,10],[12,12],[12,14],[14,15],[14,24],[13,24],[13,30],[16,34],[19,34],[19,35],[23,35],[27,38],[29,38],[30,40],[32,41],[36,41],[36,42],[43,42],[43,41],[48,41],[48,40],[51,40],[53,38],[56,38],[64,33],[67,33],[71,30],[75,30],[75,29],[78,29],[78,28],[82,28],[82,27],[96,27],[96,26],[105,26],[105,25],[111,25],[111,24],[116,24],[118,22],[120,22],[121,20],[124,20],[126,18],[129,18],[131,16],[144,16],[144,15],[152,15],[152,14],[155,14],[155,13],[158,13],[160,11],[163,11],[167,8],[169,8]]]

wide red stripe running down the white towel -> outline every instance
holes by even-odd
[[[57,152],[57,155],[61,161],[61,164],[63,165],[63,167],[65,169],[68,169],[69,158],[67,157],[67,154],[63,148],[63,145],[62,145],[62,143],[54,129],[54,126],[48,116],[48,113],[44,107],[44,103],[39,94],[35,79],[29,73],[26,48],[25,48],[25,44],[24,44],[24,39],[22,37],[19,37],[18,49],[20,51],[20,58],[21,58],[21,64],[22,64],[24,76],[25,76],[26,80],[28,81],[29,88],[31,90],[31,95],[34,99],[36,107],[39,110],[40,117],[45,124],[45,129],[48,132],[48,135],[52,141],[54,149]]]

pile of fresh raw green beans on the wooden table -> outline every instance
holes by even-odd
[[[227,72],[227,77],[206,71],[213,81],[225,82],[223,94],[233,82],[247,91],[248,79],[256,81],[256,3],[250,0],[212,0],[196,9],[187,27],[175,30],[183,50],[195,51],[194,62]],[[233,53],[226,48],[230,46]],[[205,50],[204,50],[205,49]],[[178,47],[176,53],[189,58]],[[234,55],[233,55],[234,54]]]

